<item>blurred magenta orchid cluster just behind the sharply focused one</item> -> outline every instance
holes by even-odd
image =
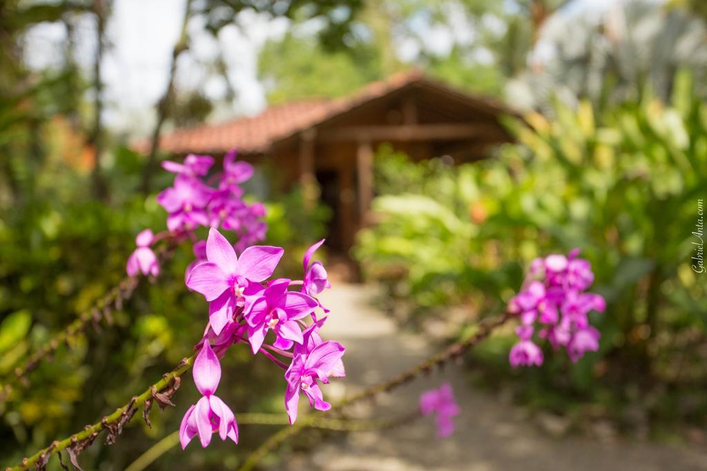
[[[220,227],[235,232],[238,242],[235,250],[244,251],[247,246],[264,240],[267,225],[262,221],[265,208],[262,203],[247,204],[241,198],[240,184],[252,177],[253,167],[247,162],[235,160],[235,150],[223,157],[223,172],[207,179],[214,165],[210,155],[190,154],[183,163],[165,160],[162,167],[176,174],[173,186],[157,195],[157,201],[168,213],[167,228],[177,239],[189,237],[194,241],[197,261],[204,260],[204,241],[197,241],[199,227]],[[211,186],[215,184],[215,186]],[[157,276],[160,273],[158,258],[153,244],[162,237],[149,229],[138,234],[136,250],[128,259],[126,271],[129,276]]]

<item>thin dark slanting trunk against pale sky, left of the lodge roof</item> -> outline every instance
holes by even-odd
[[[192,0],[187,0],[187,5],[185,6],[184,18],[182,19],[182,28],[180,30],[180,36],[175,44],[172,51],[172,63],[170,64],[170,75],[167,81],[167,88],[165,89],[165,94],[160,98],[157,103],[157,121],[155,123],[155,128],[152,131],[152,141],[150,145],[150,153],[147,156],[147,163],[145,165],[145,172],[143,174],[142,181],[142,191],[143,193],[149,193],[152,186],[152,175],[155,172],[157,165],[157,150],[160,145],[160,133],[162,132],[162,126],[167,120],[170,102],[174,98],[175,92],[175,76],[177,75],[177,59],[189,49],[189,30],[187,26],[189,25],[189,18],[192,15]]]

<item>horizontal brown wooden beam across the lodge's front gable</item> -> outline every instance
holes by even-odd
[[[322,141],[447,141],[492,137],[501,132],[492,124],[401,124],[344,126],[322,133]]]

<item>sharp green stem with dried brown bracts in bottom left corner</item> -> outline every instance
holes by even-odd
[[[152,391],[153,388],[154,390],[162,390],[166,388],[170,381],[172,381],[173,378],[176,376],[181,376],[182,374],[185,373],[185,371],[189,370],[192,367],[192,364],[194,363],[194,356],[189,358],[185,358],[180,362],[180,364],[170,371],[169,373],[163,375],[162,379],[158,381],[157,383],[154,383],[152,386],[147,388],[144,393],[138,396],[134,396],[129,403],[124,405],[123,407],[119,407],[115,412],[113,412],[111,415],[108,415],[107,417],[103,417],[103,419],[100,422],[96,422],[93,425],[87,426],[83,431],[78,432],[78,434],[71,435],[67,437],[66,439],[62,441],[54,441],[50,446],[48,446],[45,449],[42,449],[35,453],[34,455],[30,456],[29,458],[24,458],[22,460],[22,463],[15,466],[15,467],[8,467],[6,468],[6,471],[24,471],[30,469],[30,467],[33,467],[37,461],[40,459],[42,460],[47,460],[49,456],[54,455],[54,453],[58,453],[59,451],[62,451],[66,448],[69,448],[72,446],[74,443],[81,443],[81,441],[91,439],[94,434],[98,434],[100,431],[103,431],[107,428],[108,425],[112,424],[117,424],[124,415],[127,415],[132,407],[139,407],[140,405],[143,405],[146,400],[152,397]],[[129,422],[129,421],[128,421]]]

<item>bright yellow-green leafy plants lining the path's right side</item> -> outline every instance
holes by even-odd
[[[678,77],[672,106],[648,93],[602,114],[587,102],[557,104],[556,120],[531,114],[515,124],[518,144],[453,172],[392,157],[381,178],[403,187],[409,175],[412,194],[375,201],[381,222],[361,234],[358,258],[377,277],[395,266],[388,278],[416,304],[503,309],[521,275],[504,261],[527,266],[580,247],[609,303],[596,319],[602,350],[575,366],[556,356],[524,384],[546,381],[575,399],[631,398],[646,417],[699,422],[705,401],[670,414],[655,403],[686,398],[705,379],[696,342],[707,330],[707,292],[691,269],[700,242],[691,233],[707,189],[707,105],[689,82]]]

